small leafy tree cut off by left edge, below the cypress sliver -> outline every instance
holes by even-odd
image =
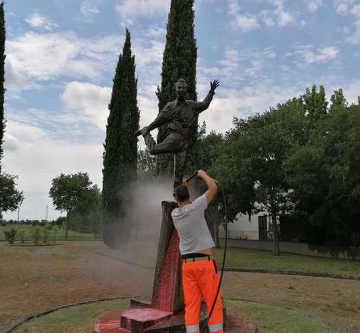
[[[16,190],[17,176],[0,174],[0,216],[3,211],[16,211],[23,203],[23,192]]]

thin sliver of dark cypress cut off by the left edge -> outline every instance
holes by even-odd
[[[5,117],[3,111],[3,103],[4,103],[4,95],[5,95],[5,88],[4,88],[5,57],[6,57],[5,56],[5,13],[2,2],[0,3],[0,174],[1,174],[1,158],[3,157],[3,136],[5,133]]]

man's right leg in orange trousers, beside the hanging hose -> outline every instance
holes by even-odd
[[[206,309],[210,314],[211,308],[215,301],[217,288],[219,287],[219,273],[218,268],[215,268],[215,262],[213,260],[200,261],[203,264],[203,269],[198,270],[197,284],[202,293],[202,297],[206,303]],[[198,262],[198,263],[200,263]],[[211,314],[208,320],[208,332],[209,333],[224,333],[223,325],[223,311],[221,302],[221,292],[217,296],[217,300],[214,306],[213,314]]]

